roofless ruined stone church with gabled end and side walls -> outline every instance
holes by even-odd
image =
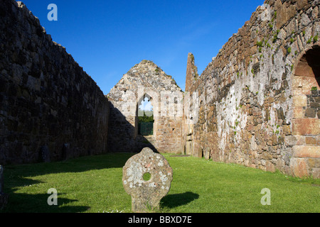
[[[1,165],[149,147],[320,177],[319,0],[265,1],[200,76],[186,56],[184,92],[143,60],[107,96],[23,3],[0,5]]]

